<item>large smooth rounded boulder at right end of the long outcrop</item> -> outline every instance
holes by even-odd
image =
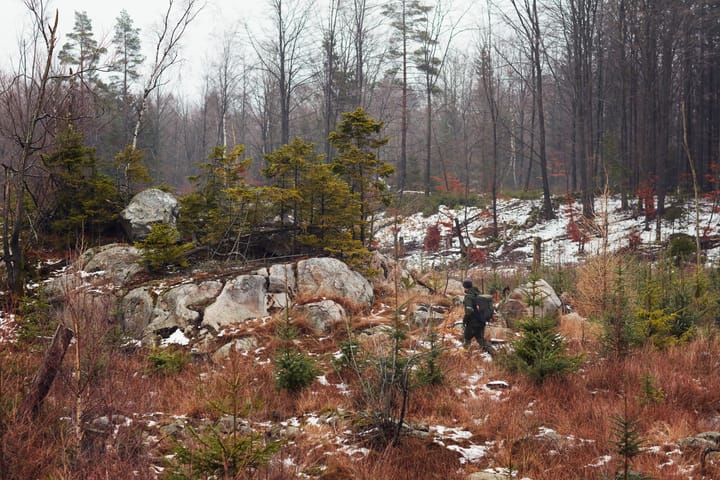
[[[374,298],[370,282],[335,258],[310,258],[298,262],[297,295],[343,298],[358,306],[370,306]]]

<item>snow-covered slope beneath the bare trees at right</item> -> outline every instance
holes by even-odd
[[[668,205],[670,199],[668,199]],[[540,202],[530,202],[517,199],[498,199],[498,224],[499,235],[504,241],[496,251],[489,252],[490,260],[502,260],[508,252],[504,251],[510,240],[518,247],[513,251],[516,254],[524,254],[526,262],[532,261],[533,237],[540,237],[543,241],[543,261],[546,263],[578,263],[584,255],[594,255],[607,251],[613,252],[629,246],[630,235],[636,235],[643,245],[654,245],[656,230],[654,221],[649,230],[645,229],[644,216],[633,214],[630,210],[621,210],[621,201],[618,197],[598,197],[595,201],[596,219],[595,225],[598,232],[606,228],[607,241],[598,236],[598,232],[588,234],[588,240],[584,245],[584,252],[580,252],[578,242],[573,241],[567,233],[570,220],[579,218],[582,211],[581,204],[563,203],[555,210],[557,217],[553,220],[535,223],[527,223],[533,210],[540,208]],[[716,235],[720,233],[717,224],[717,215],[713,217],[713,205],[707,200],[700,201],[700,229],[701,235]],[[683,205],[685,214],[674,222],[663,221],[662,240],[667,241],[674,233],[685,233],[694,236],[696,233],[695,218],[692,212],[695,209],[694,202],[686,202]],[[381,249],[392,248],[397,229],[397,236],[402,237],[409,254],[403,257],[408,268],[424,270],[437,264],[446,264],[459,258],[460,246],[453,231],[454,219],[461,223],[467,222],[463,230],[468,232],[472,243],[483,240],[480,232],[487,231],[491,226],[492,215],[489,210],[477,207],[450,209],[440,206],[438,213],[424,216],[417,213],[402,219],[399,222],[385,222],[386,226],[380,228],[375,234],[375,239]],[[607,218],[607,225],[603,225]],[[528,225],[528,226],[526,226]],[[447,239],[449,247],[437,254],[423,251],[423,243],[427,235],[428,227],[438,226],[440,235]],[[477,233],[476,233],[477,232]],[[716,264],[720,260],[720,247],[704,251],[707,264]]]

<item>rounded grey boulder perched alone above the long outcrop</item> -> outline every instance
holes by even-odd
[[[153,223],[175,224],[178,214],[177,199],[170,193],[150,188],[135,195],[120,219],[125,233],[131,241],[142,240],[152,228]]]

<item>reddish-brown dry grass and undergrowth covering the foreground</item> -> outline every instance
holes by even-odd
[[[353,431],[363,399],[358,382],[340,375],[334,359],[349,330],[390,324],[389,315],[384,320],[359,315],[322,337],[301,326],[296,345],[315,359],[324,381],[294,394],[274,384],[272,358],[280,345],[274,322],[253,332],[256,351],[189,362],[178,372],[150,371],[146,349],[105,345],[93,352],[92,393],[84,397],[83,421],[112,415],[129,421],[102,442],[91,441],[90,433],[85,442],[73,439],[68,419],[77,395],[70,357],[40,416],[34,421],[15,418],[14,409],[41,357],[29,348],[2,345],[0,476],[94,479],[138,472],[134,478],[162,478],[152,466],[163,464],[174,437],[153,424],[178,418],[184,425],[214,424],[234,402],[242,418],[268,438],[275,438],[275,426],[299,425],[298,431],[282,436],[282,448],[258,478],[460,479],[488,468],[533,480],[612,478],[620,467],[613,446],[613,418],[618,416],[637,420],[643,450],[633,459],[635,470],[655,479],[701,478],[701,452],[680,451],[678,441],[720,429],[718,338],[701,335],[682,346],[636,348],[613,359],[601,353],[596,325],[568,320],[561,329],[571,349],[583,353],[583,364],[576,373],[536,384],[502,370],[477,346],[459,348],[453,340],[461,331],[451,328],[459,307],[445,298],[425,300],[451,308],[446,328],[438,328],[444,382],[418,386],[409,396],[406,421],[427,435],[406,435],[398,446],[373,450]],[[410,330],[407,347],[418,348],[426,334],[423,328]],[[488,386],[497,380],[507,388]],[[450,440],[439,435],[438,427],[457,429],[463,436]],[[484,453],[471,460],[459,453],[472,447],[482,447]],[[38,461],[27,462],[29,458]],[[720,478],[715,458],[707,460],[705,478]]]

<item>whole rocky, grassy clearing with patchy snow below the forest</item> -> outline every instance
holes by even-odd
[[[709,207],[702,222],[714,225]],[[648,341],[622,357],[607,351],[596,320],[603,308],[618,311],[592,295],[616,271],[612,252],[638,231],[657,258],[654,232],[608,210],[614,247],[603,252],[589,234],[578,254],[568,216],[531,224],[532,205],[519,201],[501,211],[498,244],[482,236],[482,210],[441,209],[380,230],[380,250],[392,253],[394,232],[405,250],[398,261],[377,252],[370,278],[330,258],[154,278],[129,245],[85,252],[36,287],[42,303],[3,320],[3,398],[16,401],[0,412],[0,477],[600,479],[628,460],[651,478],[718,478],[720,341],[704,320],[710,310],[682,342]],[[470,269],[456,269],[455,218],[487,251]],[[664,226],[663,241],[691,224]],[[430,225],[446,239],[431,251],[422,248]],[[533,237],[546,247],[547,281],[528,277]],[[692,278],[691,266],[667,268]],[[486,335],[497,356],[462,348],[466,277],[508,287]],[[543,305],[528,305],[539,291]],[[709,306],[717,292],[706,295]],[[579,355],[574,373],[537,382],[500,361],[537,308]],[[47,320],[74,340],[40,408],[23,412],[49,344],[27,326]],[[623,455],[618,442],[630,437],[637,443]]]

